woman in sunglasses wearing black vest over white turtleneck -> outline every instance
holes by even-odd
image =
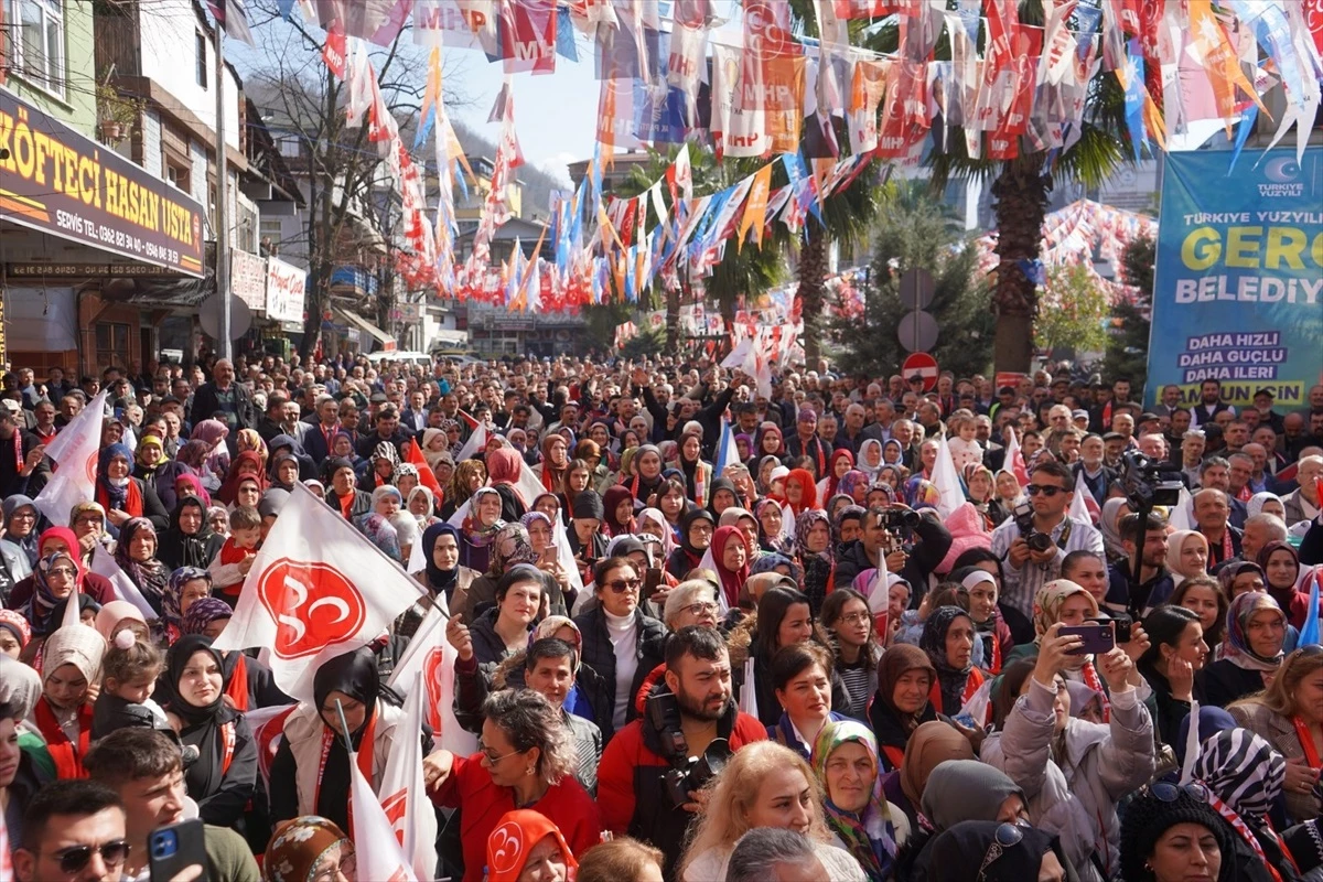
[[[583,664],[597,673],[589,696],[593,722],[602,741],[638,715],[632,701],[651,668],[642,664],[644,645],[660,640],[665,625],[643,614],[643,578],[627,558],[609,557],[593,567],[597,606],[574,618],[583,635]]]

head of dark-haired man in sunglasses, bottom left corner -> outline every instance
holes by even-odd
[[[32,797],[13,869],[20,882],[119,882],[128,852],[119,795],[95,782],[60,780]]]

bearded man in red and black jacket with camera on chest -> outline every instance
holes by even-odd
[[[669,862],[684,850],[699,791],[730,755],[767,729],[732,697],[730,655],[714,628],[689,625],[667,643],[665,682],[652,688],[644,713],[617,733],[598,766],[602,825],[651,841]]]

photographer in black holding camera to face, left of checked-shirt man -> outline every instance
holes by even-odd
[[[836,558],[836,584],[851,584],[864,570],[877,567],[878,553],[886,554],[886,571],[914,587],[910,606],[927,594],[929,577],[951,550],[951,532],[935,512],[916,512],[896,502],[871,508],[860,537],[841,549]]]

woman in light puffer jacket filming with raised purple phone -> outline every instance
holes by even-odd
[[[1114,623],[1094,627],[1110,631]],[[1117,803],[1155,768],[1154,723],[1136,689],[1134,662],[1109,636],[1113,648],[1095,657],[1110,697],[1107,722],[1073,715],[1076,697],[1064,674],[1090,640],[1057,621],[1043,633],[1037,659],[1021,659],[1003,672],[992,698],[996,729],[980,748],[983,762],[1024,789],[1029,822],[1061,837],[1082,882],[1115,878]]]

